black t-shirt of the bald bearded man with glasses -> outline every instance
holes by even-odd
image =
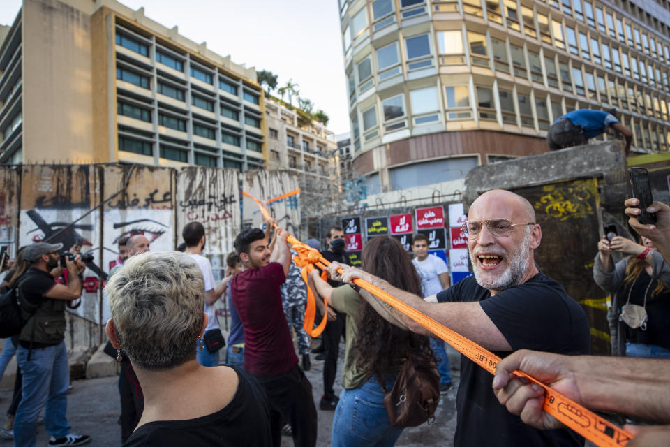
[[[543,273],[495,296],[471,276],[438,293],[437,298],[438,302],[481,302],[513,351],[589,353],[586,314],[563,286]],[[508,354],[496,352],[500,357]],[[583,446],[583,438],[572,430],[537,430],[524,424],[498,402],[492,381],[489,372],[461,356],[454,446]]]

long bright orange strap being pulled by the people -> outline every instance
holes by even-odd
[[[288,197],[298,192],[299,189],[287,194],[283,194],[282,196],[278,196],[278,198]],[[266,219],[270,219],[269,212],[267,212],[260,200],[253,198],[244,191],[242,193],[244,196],[254,200],[255,203],[257,203],[260,207],[260,211],[262,212],[263,216]],[[270,199],[266,203],[269,203],[272,200],[279,200],[278,198]],[[302,277],[306,284],[308,284],[307,274],[314,269],[314,265],[317,265],[321,269],[325,268],[327,265],[330,265],[329,261],[323,258],[318,250],[303,244],[292,235],[289,234],[286,237],[286,242],[288,242],[288,244],[290,244],[291,247],[298,253],[298,256],[293,258],[293,260],[298,267],[302,268]],[[342,270],[339,269],[338,272],[342,272]],[[322,272],[321,277],[326,279],[325,272]],[[412,318],[412,320],[416,321],[424,328],[430,330],[433,332],[433,334],[452,345],[454,349],[462,353],[463,356],[466,356],[473,362],[477,363],[477,365],[486,369],[486,371],[490,372],[491,374],[496,374],[496,363],[498,363],[500,357],[482,348],[482,346],[472,342],[470,339],[463,337],[463,335],[460,335],[458,332],[454,332],[453,330],[438,323],[437,321],[433,320],[433,318],[422,314],[422,312],[417,311],[417,309],[406,305],[404,302],[398,300],[393,295],[390,295],[386,291],[373,286],[367,281],[356,278],[354,279],[354,284],[372,293],[380,300],[386,302],[406,316]],[[312,329],[316,312],[316,302],[313,292],[309,286],[307,287],[307,296],[308,298],[304,326],[307,333],[312,337],[315,337],[323,331],[323,328],[325,328],[326,316],[323,316],[322,321],[317,328]],[[558,419],[565,426],[574,430],[574,432],[581,434],[581,436],[593,442],[598,447],[621,447],[628,444],[628,441],[632,439],[632,434],[629,432],[626,432],[622,428],[609,423],[607,420],[597,416],[597,414],[593,413],[593,411],[590,411],[580,404],[577,404],[576,402],[568,399],[564,395],[557,393],[556,390],[549,388],[549,386],[544,385],[544,383],[537,381],[537,379],[534,379],[528,374],[518,370],[514,371],[514,374],[519,377],[526,377],[528,380],[537,383],[539,386],[542,386],[542,388],[544,388],[544,405],[542,406],[542,409],[544,409],[546,413],[549,413],[551,416]]]

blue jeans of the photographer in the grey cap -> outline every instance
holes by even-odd
[[[61,438],[70,433],[66,418],[70,385],[70,368],[65,342],[43,349],[33,349],[30,361],[29,349],[19,346],[16,360],[23,374],[21,403],[14,420],[15,447],[34,447],[37,417],[44,411],[44,427],[47,433]]]

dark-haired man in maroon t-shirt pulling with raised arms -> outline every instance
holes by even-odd
[[[265,233],[244,230],[234,247],[242,271],[232,279],[232,300],[244,326],[244,370],[258,380],[270,402],[272,438],[281,446],[281,419],[288,420],[295,446],[316,445],[312,386],[298,365],[279,286],[291,265],[287,233],[278,230],[270,253]]]

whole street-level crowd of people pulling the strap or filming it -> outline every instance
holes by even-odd
[[[440,388],[451,386],[442,341],[357,287],[355,279],[503,358],[494,377],[461,357],[454,446],[583,446],[583,438],[542,411],[544,390],[514,376],[515,369],[590,409],[669,424],[670,362],[662,359],[670,358],[670,206],[653,203],[648,212],[657,223],[643,225],[636,219],[637,205],[636,199],[626,200],[625,212],[640,243],[604,235],[593,266],[596,283],[611,293],[614,357],[588,356],[586,314],[535,262],[542,228],[533,206],[515,193],[488,191],[470,205],[462,232],[474,275],[457,284],[449,284],[446,266],[427,253],[421,235],[412,241],[413,260],[394,238],[374,237],[364,247],[361,268],[355,268],[342,256],[343,230],[330,228],[321,252],[332,261],[328,281],[314,270],[308,282],[328,320],[319,408],[334,410],[331,444],[395,444],[403,428],[389,422],[382,401],[410,352],[434,353],[441,364]],[[151,253],[142,235],[121,241],[128,257],[119,257],[105,288],[112,311],[106,326],[109,353],[122,365],[124,446],[279,446],[282,433],[296,446],[315,446],[317,409],[304,373],[311,367],[310,340],[301,327],[306,285],[292,265],[287,233],[274,221],[265,231],[242,231],[226,258],[228,276],[218,286],[202,255],[207,239],[202,224],[189,223],[182,236],[183,254]],[[73,434],[65,417],[64,309],[81,295],[82,265],[77,256],[66,258],[68,282],[55,283],[53,274],[59,272],[52,269],[61,248],[25,247],[4,284],[20,281],[29,321],[0,356],[4,361],[15,349],[22,380],[13,406],[15,446],[34,445],[43,409],[50,446],[90,441]],[[616,253],[625,258],[613,261]],[[214,313],[220,299],[227,300],[231,317],[228,343]],[[43,330],[44,321],[54,325],[53,332]],[[341,337],[343,391],[337,396]],[[627,429],[635,434],[630,446],[670,442],[670,425]]]

